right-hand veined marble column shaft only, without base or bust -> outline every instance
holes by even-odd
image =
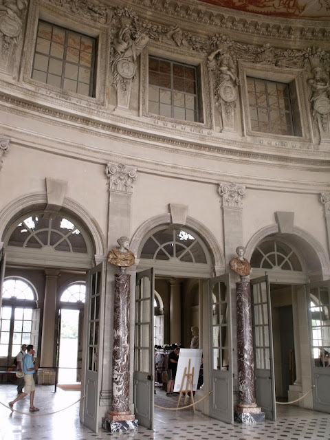
[[[236,283],[239,406],[256,406],[250,282]]]

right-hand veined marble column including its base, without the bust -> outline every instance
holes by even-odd
[[[239,423],[265,421],[265,413],[256,404],[250,281],[236,283],[237,357],[239,367],[239,404],[234,419]]]

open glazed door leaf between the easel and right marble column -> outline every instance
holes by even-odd
[[[232,401],[232,333],[230,275],[209,280],[210,294],[210,416],[234,422]]]

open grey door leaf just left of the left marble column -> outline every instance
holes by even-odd
[[[102,270],[103,265],[97,265],[89,272],[87,295],[88,323],[87,323],[87,365],[85,375],[84,425],[98,432],[98,395],[99,373],[98,360],[102,359],[100,341],[102,329]]]

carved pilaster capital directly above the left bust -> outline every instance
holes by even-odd
[[[108,163],[105,174],[109,178],[109,191],[131,192],[137,176],[136,166]]]

